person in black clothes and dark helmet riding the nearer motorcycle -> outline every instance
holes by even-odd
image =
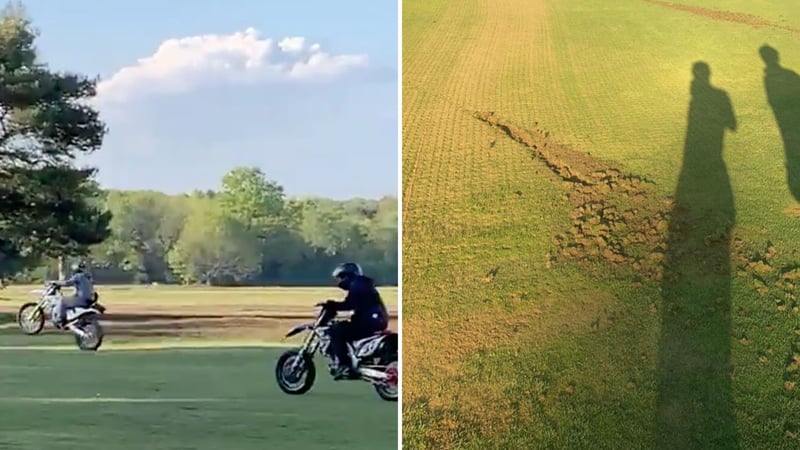
[[[325,307],[333,311],[353,311],[350,320],[337,322],[330,329],[330,351],[336,357],[332,375],[338,380],[358,373],[358,367],[352,367],[347,343],[385,330],[389,326],[389,313],[374,281],[364,276],[361,266],[353,262],[339,264],[332,275],[347,296],[341,302],[328,300]]]

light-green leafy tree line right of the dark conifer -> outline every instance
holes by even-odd
[[[109,191],[110,236],[90,248],[107,282],[328,284],[358,261],[397,283],[397,199],[287,199],[255,167],[228,172],[218,191]]]

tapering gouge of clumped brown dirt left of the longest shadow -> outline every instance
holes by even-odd
[[[563,199],[574,205],[571,227],[555,236],[550,263],[604,261],[632,269],[637,277],[661,279],[673,203],[656,195],[652,181],[564,146],[546,130],[530,133],[494,112],[476,112],[475,117],[527,147],[533,159],[563,181]]]

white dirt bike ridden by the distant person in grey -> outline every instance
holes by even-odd
[[[44,328],[45,318],[49,317],[52,321],[54,308],[61,299],[61,287],[49,284],[39,301],[22,305],[17,313],[17,323],[22,332],[28,335],[39,334]],[[67,308],[64,328],[75,335],[75,342],[81,350],[94,351],[103,343],[103,327],[99,319],[106,309],[98,300],[99,296],[95,293],[88,307]]]

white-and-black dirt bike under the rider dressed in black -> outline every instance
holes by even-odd
[[[329,368],[333,368],[333,359],[328,356],[328,348],[331,344],[330,327],[334,323],[336,312],[327,308],[324,303],[317,306],[322,307],[317,320],[298,325],[286,334],[286,338],[289,338],[303,331],[310,331],[299,348],[287,350],[278,358],[275,376],[278,387],[287,394],[305,394],[314,385],[317,373],[314,353],[317,351],[328,359]],[[382,399],[396,402],[399,379],[397,333],[384,330],[347,345],[352,366],[358,367],[358,372],[349,379],[367,381],[374,386]]]

